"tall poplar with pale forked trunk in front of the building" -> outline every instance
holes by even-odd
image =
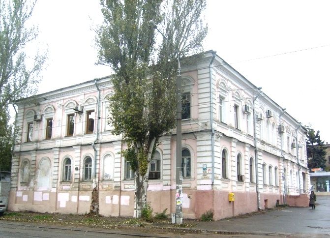
[[[101,0],[101,5],[104,24],[97,36],[99,63],[110,65],[115,72],[110,120],[114,133],[121,134],[128,145],[123,155],[135,172],[134,216],[141,217],[152,153],[159,137],[175,126],[176,52],[184,58],[202,50],[207,27],[201,13],[206,1]],[[150,20],[170,43],[157,38]]]

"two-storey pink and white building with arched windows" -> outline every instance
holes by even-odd
[[[107,77],[16,103],[10,210],[84,214],[96,201],[101,215],[133,215],[126,145],[107,122],[112,93]],[[281,106],[213,51],[182,68],[182,97],[185,218],[209,209],[221,219],[276,203],[308,206],[305,130]],[[175,212],[175,129],[159,141],[148,200],[155,212]]]

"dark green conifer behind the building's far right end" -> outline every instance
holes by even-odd
[[[306,126],[307,128],[307,158],[308,168],[326,168],[325,156],[327,152],[324,149],[324,141],[321,140],[320,131],[315,134],[314,129]]]

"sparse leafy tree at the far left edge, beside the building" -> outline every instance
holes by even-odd
[[[36,92],[39,72],[46,55],[27,59],[25,49],[37,36],[27,27],[35,0],[0,0],[0,158],[1,169],[9,170],[12,131],[8,105]]]

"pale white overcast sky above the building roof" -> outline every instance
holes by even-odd
[[[330,142],[329,9],[328,0],[208,0],[204,49]],[[90,29],[102,22],[99,0],[38,0],[32,20],[49,52],[39,93],[111,74],[94,65]]]

